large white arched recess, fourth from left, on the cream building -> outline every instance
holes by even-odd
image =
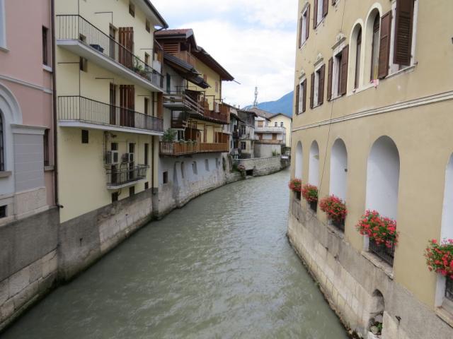
[[[368,210],[396,219],[400,160],[398,148],[389,136],[374,141],[367,161]]]

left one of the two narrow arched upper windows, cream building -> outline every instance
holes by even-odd
[[[363,85],[363,73],[364,73],[364,38],[365,30],[362,19],[355,21],[352,26],[351,35],[349,38],[349,66],[348,66],[348,78],[352,81],[348,81],[348,92],[352,92],[356,88],[361,88]],[[357,46],[359,48],[357,49]],[[358,63],[358,65],[357,65]],[[356,71],[357,70],[357,71]],[[357,77],[356,77],[357,75]]]

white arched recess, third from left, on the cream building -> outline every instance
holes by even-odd
[[[331,184],[330,194],[346,200],[346,186],[348,179],[348,152],[343,140],[333,143],[331,151]]]

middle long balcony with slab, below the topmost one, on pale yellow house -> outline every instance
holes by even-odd
[[[156,136],[164,131],[162,119],[80,96],[58,97],[58,124]]]

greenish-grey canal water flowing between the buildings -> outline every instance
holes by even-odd
[[[2,339],[348,338],[286,238],[289,172],[152,222]]]

